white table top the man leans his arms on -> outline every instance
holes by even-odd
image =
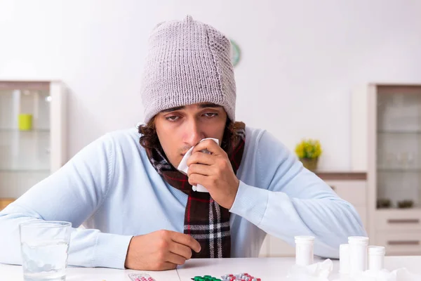
[[[315,259],[315,262],[323,261]],[[130,281],[128,273],[148,273],[156,281],[191,281],[192,277],[212,275],[220,277],[227,273],[248,273],[262,278],[262,281],[283,280],[293,266],[295,258],[256,258],[256,259],[191,259],[177,270],[136,271],[112,268],[67,268],[67,281]],[[386,256],[385,268],[395,270],[407,268],[411,273],[421,275],[421,256]],[[329,280],[338,275],[339,262],[333,260],[333,273]],[[0,263],[0,280],[22,281],[22,267]]]

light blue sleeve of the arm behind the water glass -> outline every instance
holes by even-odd
[[[87,145],[51,176],[0,212],[0,262],[22,264],[19,224],[69,221],[72,266],[124,268],[131,236],[78,228],[107,197],[114,169],[114,143],[105,135]]]

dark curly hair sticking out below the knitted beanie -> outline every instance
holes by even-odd
[[[223,150],[227,151],[229,144],[232,141],[236,141],[236,138],[239,138],[239,136],[235,132],[243,126],[243,122],[231,122],[231,120],[227,119],[227,123],[225,124],[224,136],[222,137],[221,143],[221,148]],[[139,126],[138,129],[139,133],[142,135],[140,136],[139,142],[143,148],[157,148],[161,152],[163,152],[161,143],[159,143],[158,135],[156,134],[154,118],[152,118],[146,125]]]

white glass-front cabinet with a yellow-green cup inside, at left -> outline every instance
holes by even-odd
[[[66,161],[65,86],[0,81],[0,200],[10,202]]]

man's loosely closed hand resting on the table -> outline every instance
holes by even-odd
[[[135,236],[128,245],[126,268],[135,270],[168,270],[184,264],[198,253],[199,242],[191,236],[170,230],[158,230]]]

